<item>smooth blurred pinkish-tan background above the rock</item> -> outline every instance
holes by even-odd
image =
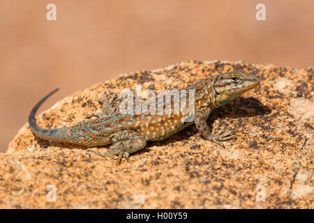
[[[190,59],[314,65],[313,0],[0,0],[0,15],[0,152],[56,87],[40,112],[121,73]]]

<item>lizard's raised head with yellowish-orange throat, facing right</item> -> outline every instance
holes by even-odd
[[[219,75],[214,83],[216,91],[215,107],[226,105],[232,100],[237,99],[244,92],[255,88],[260,84],[260,80],[245,70],[227,72]]]

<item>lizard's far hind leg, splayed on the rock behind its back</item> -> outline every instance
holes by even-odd
[[[108,116],[111,116],[116,112],[116,100],[117,94],[112,95],[112,97],[108,100],[107,93],[105,93],[102,99],[98,99],[98,102],[102,104],[101,112],[85,113],[84,115],[87,116],[87,118],[91,118],[94,116],[96,116],[97,118],[107,118]]]

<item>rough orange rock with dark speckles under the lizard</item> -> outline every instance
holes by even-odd
[[[117,157],[38,139],[25,124],[0,155],[0,208],[314,208],[313,68],[182,62],[74,93],[43,112],[38,125],[59,128],[84,120],[85,112],[100,109],[97,99],[105,91],[135,84],[142,90],[180,88],[237,69],[261,84],[233,107],[211,114],[210,125],[218,120],[237,134],[225,148],[200,137],[192,125],[149,142],[116,166]]]

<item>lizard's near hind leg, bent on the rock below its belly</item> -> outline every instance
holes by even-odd
[[[121,161],[122,157],[128,158],[130,153],[140,151],[147,144],[147,140],[142,134],[133,130],[121,130],[112,134],[110,143],[113,145],[108,148],[107,152],[101,153],[99,151],[87,150],[101,156],[119,155],[117,164]]]

